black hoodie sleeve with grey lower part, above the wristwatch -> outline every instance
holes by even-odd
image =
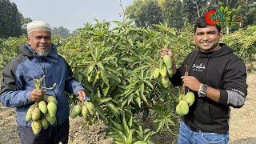
[[[226,66],[223,74],[224,90],[220,90],[219,103],[242,107],[247,95],[246,66],[240,58],[235,58]]]

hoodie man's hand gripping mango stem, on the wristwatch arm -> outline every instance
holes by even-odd
[[[199,91],[200,89],[201,82],[192,76],[182,76],[182,82],[184,82],[184,86],[188,87],[190,90]]]

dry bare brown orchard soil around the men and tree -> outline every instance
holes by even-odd
[[[2,74],[2,73],[1,73]],[[0,79],[2,76],[0,75]],[[241,109],[231,108],[230,118],[230,144],[254,144],[256,143],[256,73],[248,74],[248,95],[245,105]],[[106,126],[98,122],[92,126],[86,126],[82,118],[70,118],[70,138],[73,143],[111,143],[111,138],[106,138]],[[155,143],[177,143],[170,134],[158,134],[154,136]],[[171,141],[170,141],[171,140]],[[0,105],[0,143],[20,143],[16,129],[16,118],[13,108]]]

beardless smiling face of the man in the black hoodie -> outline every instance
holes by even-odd
[[[221,34],[216,26],[197,27],[194,33],[194,42],[202,52],[218,50],[220,38]]]

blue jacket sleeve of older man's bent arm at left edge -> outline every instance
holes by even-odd
[[[0,100],[4,106],[18,107],[31,103],[30,91],[22,90],[22,68],[10,62],[2,72]]]

